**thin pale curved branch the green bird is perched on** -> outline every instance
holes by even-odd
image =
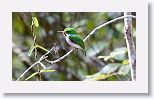
[[[118,20],[121,20],[121,19],[124,19],[124,18],[128,18],[128,17],[130,17],[130,18],[136,18],[136,17],[133,16],[133,15],[127,15],[127,16],[121,16],[121,17],[115,18],[115,19],[113,19],[113,20],[111,20],[111,21],[108,21],[108,22],[106,22],[106,23],[103,23],[102,25],[96,27],[92,32],[90,32],[90,34],[89,34],[83,41],[85,42],[91,35],[93,35],[93,34],[94,34],[97,30],[99,30],[100,28],[102,28],[102,27],[104,27],[104,26],[106,26],[106,25],[109,25],[109,24],[111,24],[111,23],[113,23],[113,22],[115,22],[115,21],[118,21]],[[57,63],[57,62],[63,60],[65,57],[69,56],[72,52],[73,52],[73,49],[71,49],[69,52],[67,52],[64,56],[62,56],[62,57],[60,57],[60,58],[58,58],[58,59],[56,59],[56,60],[54,60],[54,61],[49,61],[49,60],[46,60],[46,61],[49,62],[50,64]],[[50,67],[49,67],[49,68],[50,68]]]

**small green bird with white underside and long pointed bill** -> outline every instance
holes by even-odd
[[[84,54],[86,56],[83,38],[77,33],[74,28],[65,28],[64,31],[57,32],[63,33],[67,43],[77,49],[81,49],[82,51],[84,51]]]

